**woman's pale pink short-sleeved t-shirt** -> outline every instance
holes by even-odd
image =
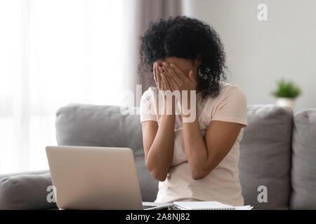
[[[159,93],[157,87],[149,87],[140,100],[140,122],[157,121],[160,124],[162,116],[157,113]],[[212,120],[240,123],[247,125],[246,96],[237,86],[220,83],[218,97],[202,98],[196,94],[197,118],[199,128],[204,137]],[[244,204],[242,187],[239,182],[239,142],[244,130],[240,130],[235,144],[228,155],[204,179],[192,179],[190,167],[185,154],[183,127],[178,102],[175,123],[175,138],[171,167],[165,181],[159,181],[159,191],[155,202],[175,201],[218,201],[233,206]]]

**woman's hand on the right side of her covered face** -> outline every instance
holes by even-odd
[[[182,98],[182,91],[187,90],[188,95],[190,94],[190,90],[197,90],[197,80],[193,77],[193,71],[190,70],[188,75],[185,75],[183,71],[181,71],[176,64],[169,64],[167,62],[162,63],[164,73],[166,74],[166,78],[171,87],[171,90],[180,91],[180,95]]]

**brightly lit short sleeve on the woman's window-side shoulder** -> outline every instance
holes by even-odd
[[[146,120],[157,121],[157,113],[154,112],[154,92],[146,90],[140,99],[140,122]]]

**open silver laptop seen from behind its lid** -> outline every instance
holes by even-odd
[[[142,202],[130,148],[47,146],[59,209],[169,209],[172,203]]]

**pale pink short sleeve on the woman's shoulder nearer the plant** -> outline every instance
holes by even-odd
[[[231,85],[218,99],[212,120],[239,123],[247,126],[246,95],[237,85]]]

